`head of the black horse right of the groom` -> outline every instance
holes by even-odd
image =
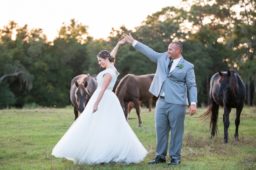
[[[218,100],[223,100],[224,97],[236,91],[236,79],[232,76],[231,71],[228,70],[227,73],[222,73],[219,71],[220,79],[218,81],[220,85],[219,92],[217,93]]]

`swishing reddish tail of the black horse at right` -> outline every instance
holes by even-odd
[[[218,117],[219,117],[219,105],[217,105],[217,107],[215,108],[215,113],[216,115],[212,115],[212,104],[208,107],[208,110],[201,116],[197,117],[197,118],[201,118],[200,121],[204,122],[204,121],[208,121],[210,119],[210,129],[213,128],[212,127],[212,116],[217,116],[216,118],[216,122],[214,124],[214,132],[215,134],[218,133]]]

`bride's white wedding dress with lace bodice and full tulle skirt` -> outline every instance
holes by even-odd
[[[106,73],[112,76],[111,82],[100,100],[98,110],[92,113]],[[145,158],[148,152],[126,122],[120,102],[112,92],[118,75],[113,69],[106,69],[98,74],[97,90],[83,113],[53,148],[53,156],[90,165],[110,161],[129,165]]]

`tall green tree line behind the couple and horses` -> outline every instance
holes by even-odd
[[[123,33],[156,52],[167,51],[180,41],[182,56],[194,64],[198,106],[209,105],[209,84],[213,74],[235,70],[246,85],[246,105],[256,104],[256,2],[255,0],[193,0],[182,7],[168,6],[148,15],[135,31],[112,28],[108,40],[95,40],[88,26],[70,19],[63,23],[54,41],[47,41],[43,29],[28,30],[14,21],[0,30],[0,108],[70,105],[71,80],[80,74],[102,71],[97,61],[101,50],[111,51]],[[15,40],[12,37],[15,36]],[[126,74],[151,74],[156,63],[124,44],[116,55],[119,79]]]

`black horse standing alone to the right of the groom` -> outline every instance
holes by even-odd
[[[245,97],[246,91],[244,82],[233,70],[228,70],[228,72],[219,71],[219,73],[212,76],[210,83],[210,100],[212,104],[203,115],[199,116],[204,119],[204,121],[211,117],[211,137],[214,137],[215,133],[217,134],[218,132],[217,121],[219,106],[222,106],[224,107],[224,142],[225,144],[228,143],[229,113],[231,108],[236,108],[236,131],[234,136],[238,140],[238,126],[240,123],[240,115],[244,107]]]

